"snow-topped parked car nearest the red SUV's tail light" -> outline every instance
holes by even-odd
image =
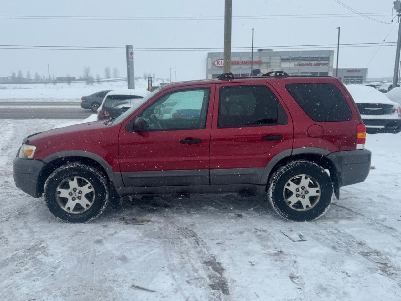
[[[373,87],[347,85],[368,133],[401,131],[401,107]]]

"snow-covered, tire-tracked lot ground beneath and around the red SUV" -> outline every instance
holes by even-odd
[[[65,224],[12,178],[22,138],[64,122],[1,121],[1,300],[401,299],[401,134],[368,135],[375,168],[316,222],[218,194],[134,198]]]

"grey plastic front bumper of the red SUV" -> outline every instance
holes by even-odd
[[[32,197],[40,197],[38,192],[39,173],[45,165],[40,160],[21,159],[17,156],[13,162],[16,187]]]

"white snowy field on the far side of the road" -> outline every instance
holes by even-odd
[[[153,85],[160,85],[160,80],[153,81]],[[80,102],[81,97],[101,90],[126,89],[126,81],[101,82],[87,85],[86,83],[53,83],[48,84],[2,84],[0,83],[0,102]],[[147,89],[148,80],[136,79],[136,89]]]

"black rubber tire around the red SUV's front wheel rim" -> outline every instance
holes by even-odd
[[[89,209],[82,208],[86,210],[82,213],[67,212],[59,204],[60,198],[57,196],[57,187],[69,177],[83,177],[93,185],[93,201]],[[91,186],[89,187],[92,188]],[[94,220],[104,211],[109,200],[109,189],[104,175],[98,169],[74,162],[62,165],[51,173],[45,182],[43,197],[47,207],[55,217],[65,222],[85,223]]]

